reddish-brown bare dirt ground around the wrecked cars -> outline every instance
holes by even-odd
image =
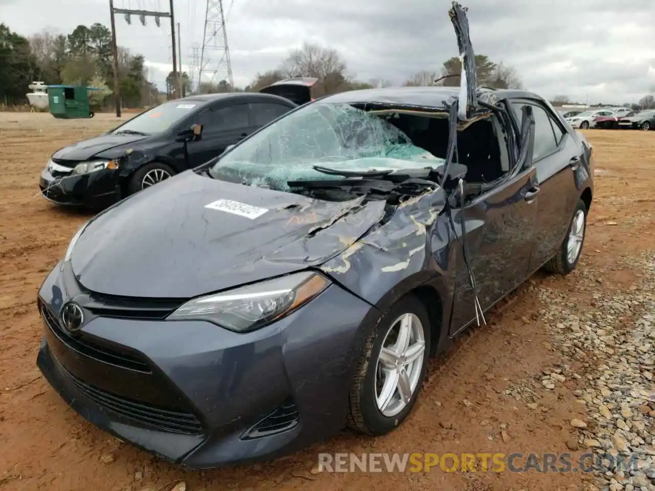
[[[9,490],[290,491],[575,490],[580,473],[317,473],[318,452],[567,452],[568,420],[580,404],[567,384],[534,411],[504,395],[562,361],[539,316],[535,285],[567,291],[580,311],[593,308],[589,274],[627,289],[639,272],[621,257],[655,245],[655,132],[588,130],[596,158],[596,190],[578,270],[563,278],[536,274],[468,331],[443,359],[409,420],[376,439],[344,431],[270,464],[183,471],[96,429],[47,385],[35,366],[41,320],[35,299],[50,268],[88,216],[46,202],[38,177],[60,147],[115,125],[112,115],[55,120],[47,114],[0,113],[0,488]],[[574,381],[571,381],[573,383]],[[470,401],[470,404],[469,404]],[[506,428],[506,431],[503,429]],[[312,472],[313,470],[313,472]]]

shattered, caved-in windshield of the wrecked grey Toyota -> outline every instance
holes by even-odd
[[[212,166],[215,179],[289,191],[287,181],[343,179],[343,171],[438,167],[391,122],[345,103],[305,105],[234,147]]]

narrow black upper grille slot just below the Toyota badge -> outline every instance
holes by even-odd
[[[82,336],[73,337],[69,335],[64,331],[64,329],[62,329],[62,327],[60,327],[56,316],[54,316],[54,314],[52,314],[52,312],[50,312],[50,310],[45,306],[41,306],[41,316],[43,316],[50,331],[52,331],[52,333],[57,336],[65,346],[74,352],[103,361],[103,363],[109,363],[109,365],[115,367],[143,373],[151,373],[149,365],[147,365],[147,363],[136,354],[123,352],[122,350],[115,350],[108,346],[100,346],[96,342]]]

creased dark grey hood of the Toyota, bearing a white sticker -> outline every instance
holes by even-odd
[[[268,211],[250,219],[206,208],[221,199]],[[385,206],[312,200],[187,171],[93,219],[71,266],[97,293],[188,299],[322,264],[378,223]]]

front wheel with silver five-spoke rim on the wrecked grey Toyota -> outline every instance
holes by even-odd
[[[428,312],[407,295],[383,314],[365,342],[350,389],[348,426],[384,435],[400,425],[421,391],[429,353]]]

